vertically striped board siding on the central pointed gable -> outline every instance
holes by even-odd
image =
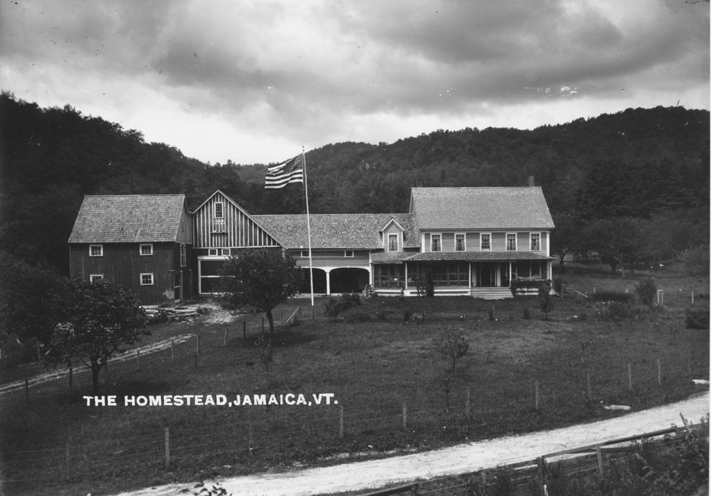
[[[215,203],[223,203],[223,220],[215,222],[213,216]],[[196,248],[246,248],[278,247],[276,239],[269,236],[262,227],[237,207],[225,195],[215,193],[196,212],[193,213],[194,246]]]

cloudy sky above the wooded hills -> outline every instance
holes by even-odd
[[[0,89],[210,163],[709,108],[685,0],[0,0]]]

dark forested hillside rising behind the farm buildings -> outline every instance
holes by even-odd
[[[0,123],[0,249],[62,272],[85,194],[186,193],[194,208],[219,188],[250,213],[303,212],[298,185],[264,190],[264,164],[205,164],[69,106],[43,109],[3,93]],[[678,252],[707,240],[709,136],[707,111],[657,107],[533,131],[440,129],[392,144],[329,144],[306,153],[309,206],[405,212],[415,185],[525,185],[535,176],[560,239],[569,225],[600,219],[683,222]]]

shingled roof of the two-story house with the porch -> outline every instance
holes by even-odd
[[[555,227],[543,191],[524,188],[412,188],[410,213],[422,230]]]

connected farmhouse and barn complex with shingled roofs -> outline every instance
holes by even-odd
[[[507,298],[551,279],[554,225],[539,187],[412,188],[397,214],[311,215],[314,292]],[[240,249],[282,249],[304,269],[306,215],[249,215],[215,191],[194,212],[183,195],[87,196],[69,239],[70,271],[104,277],[142,303],[218,291],[220,265]]]

